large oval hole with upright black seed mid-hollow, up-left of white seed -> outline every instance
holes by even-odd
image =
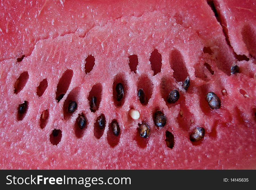
[[[125,97],[128,93],[127,81],[119,74],[113,82],[113,102],[115,106],[121,107],[125,103]]]

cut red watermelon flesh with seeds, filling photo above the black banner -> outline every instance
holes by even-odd
[[[255,168],[255,12],[2,1],[0,168]]]

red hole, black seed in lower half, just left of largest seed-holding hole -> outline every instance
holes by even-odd
[[[96,112],[99,108],[102,96],[102,85],[97,83],[94,85],[89,93],[88,101],[91,112]]]

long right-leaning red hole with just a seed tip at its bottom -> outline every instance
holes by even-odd
[[[57,102],[61,101],[63,96],[66,94],[67,89],[71,83],[71,79],[73,77],[73,71],[71,69],[66,70],[61,76],[56,90],[56,100]]]

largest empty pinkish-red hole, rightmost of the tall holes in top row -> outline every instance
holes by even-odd
[[[179,50],[173,49],[170,53],[169,61],[173,69],[173,77],[177,82],[183,82],[189,76],[183,55]]]

